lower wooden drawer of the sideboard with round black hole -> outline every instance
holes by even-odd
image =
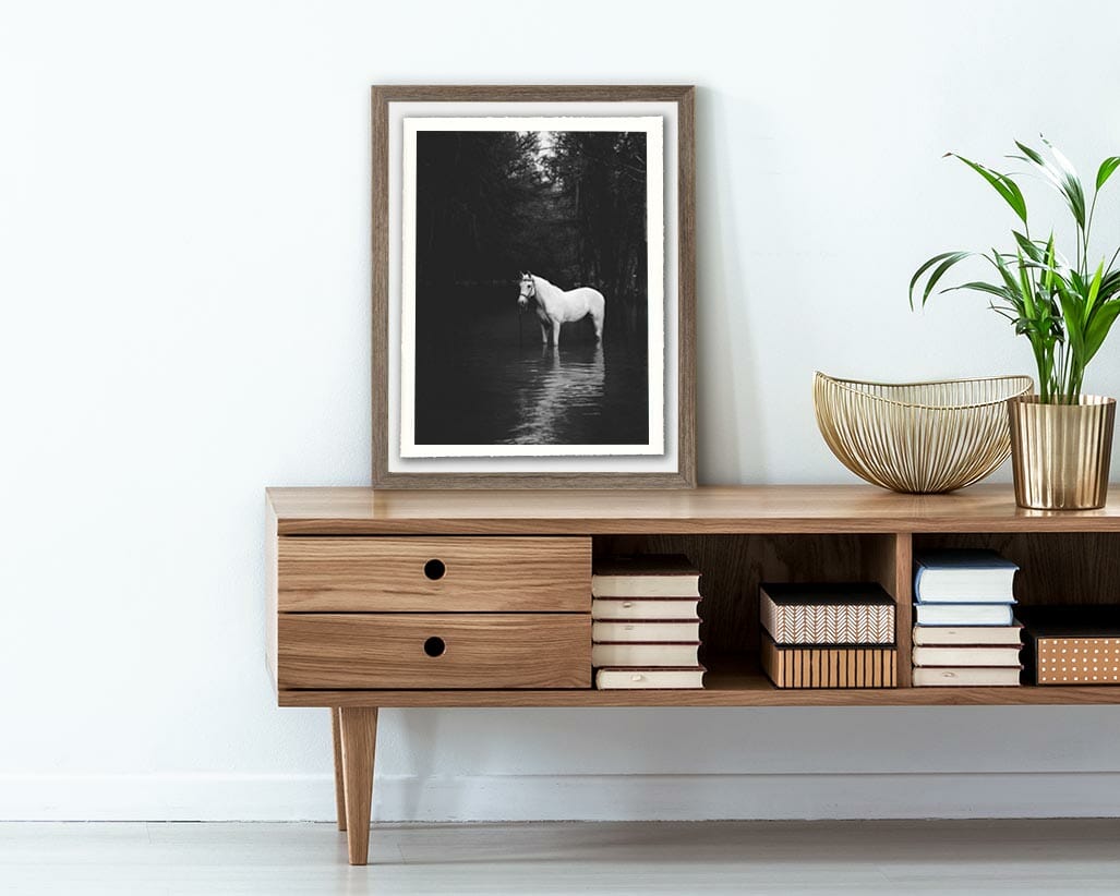
[[[281,688],[590,688],[585,614],[280,614]]]

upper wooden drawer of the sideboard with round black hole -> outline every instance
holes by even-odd
[[[281,538],[281,613],[589,613],[588,538]]]

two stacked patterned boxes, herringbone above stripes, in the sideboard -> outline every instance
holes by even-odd
[[[758,587],[763,669],[778,688],[894,688],[895,601],[875,582]]]

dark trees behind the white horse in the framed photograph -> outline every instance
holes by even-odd
[[[526,269],[601,290],[616,325],[644,323],[645,133],[418,134],[418,299],[508,284]]]

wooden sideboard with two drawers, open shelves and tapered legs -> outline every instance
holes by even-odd
[[[1120,489],[1103,510],[1021,510],[1009,485],[659,492],[268,493],[268,663],[282,707],[329,707],[338,827],[368,851],[379,707],[1118,703],[1120,687],[912,688],[912,556],[991,547],[1025,604],[1120,601]],[[592,556],[688,554],[708,674],[694,691],[591,687]],[[878,581],[899,687],[790,691],[762,673],[760,580]]]

